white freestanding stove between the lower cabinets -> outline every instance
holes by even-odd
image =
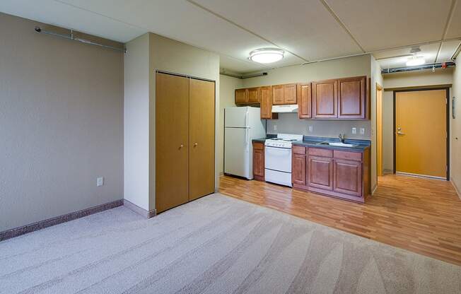
[[[303,135],[277,134],[264,142],[264,172],[266,182],[291,184],[291,142],[302,141]]]

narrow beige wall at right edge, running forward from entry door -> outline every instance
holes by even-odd
[[[456,68],[453,73],[453,95],[455,96],[456,118],[451,121],[451,177],[457,187],[458,194],[461,192],[461,69]]]

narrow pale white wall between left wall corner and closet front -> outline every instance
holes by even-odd
[[[124,199],[149,210],[149,37],[124,54]]]

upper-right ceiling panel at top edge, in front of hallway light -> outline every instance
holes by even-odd
[[[451,0],[326,1],[367,51],[440,40],[451,5]]]

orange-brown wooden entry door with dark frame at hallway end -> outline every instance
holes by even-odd
[[[448,88],[394,92],[394,172],[449,180]]]

